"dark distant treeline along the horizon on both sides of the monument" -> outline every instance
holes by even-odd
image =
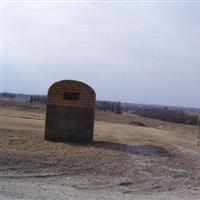
[[[15,99],[14,93],[1,93],[3,97]],[[31,103],[47,103],[46,95],[25,95],[29,96],[28,102]],[[27,99],[27,98],[26,98]],[[196,125],[198,116],[197,112],[189,112],[190,109],[176,108],[176,107],[164,107],[164,106],[151,106],[151,105],[140,105],[131,103],[121,103],[114,101],[96,101],[96,110],[103,112],[111,112],[121,114],[122,112],[128,112],[136,114],[141,117],[148,117],[158,119],[166,122],[182,123]],[[187,110],[187,111],[186,111]],[[198,109],[197,109],[198,110]],[[199,111],[199,110],[198,110]]]

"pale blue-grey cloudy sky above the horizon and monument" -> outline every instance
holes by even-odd
[[[4,2],[3,91],[62,79],[97,99],[200,108],[200,2]]]

